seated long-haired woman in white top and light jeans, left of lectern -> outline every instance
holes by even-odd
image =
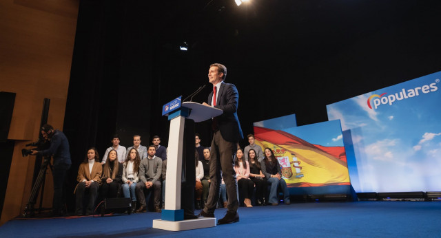
[[[139,164],[141,158],[135,148],[127,151],[127,158],[123,163],[123,194],[124,197],[132,197],[132,213],[136,210],[136,183],[139,180]]]

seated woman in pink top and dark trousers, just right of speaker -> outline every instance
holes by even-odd
[[[236,151],[236,160],[234,160],[234,171],[236,171],[238,190],[245,197],[243,203],[247,208],[252,207],[250,198],[253,195],[254,182],[249,179],[249,164],[243,156],[243,149],[239,148]]]

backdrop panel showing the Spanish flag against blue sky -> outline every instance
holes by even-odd
[[[274,151],[291,195],[350,193],[339,120],[279,130],[255,126],[254,136],[263,150]]]

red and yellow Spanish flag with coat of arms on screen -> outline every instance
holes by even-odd
[[[273,150],[289,187],[351,184],[345,147],[310,144],[285,131],[263,127],[254,127],[254,137],[263,150]]]

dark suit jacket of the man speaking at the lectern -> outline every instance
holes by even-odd
[[[242,129],[237,117],[239,93],[231,83],[221,83],[217,92],[216,108],[222,109],[223,114],[217,116],[220,134],[229,142],[238,142],[243,139]],[[208,104],[212,104],[213,91],[208,96]]]

